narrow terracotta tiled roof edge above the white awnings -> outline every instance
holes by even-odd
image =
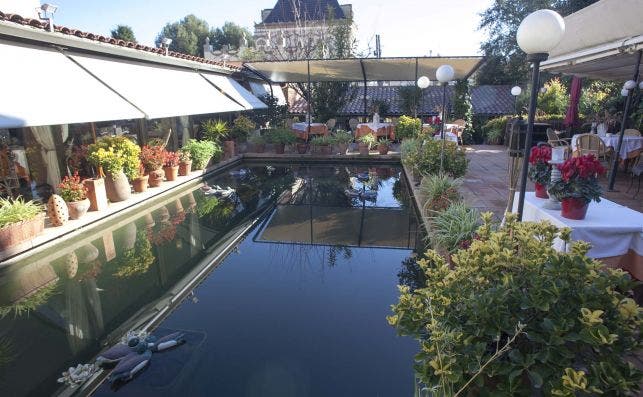
[[[43,31],[49,30],[48,22],[44,22],[39,19],[24,18],[18,14],[5,14],[2,11],[0,11],[0,21],[13,22],[19,25],[30,26],[32,28],[43,30]],[[106,37],[96,33],[84,32],[81,30],[68,28],[66,26],[54,25],[54,31],[65,35],[69,35],[69,36],[75,36],[82,39],[95,41],[98,43],[112,44],[119,47],[132,48],[135,50],[145,51],[145,52],[155,53],[155,54],[165,54],[165,50],[162,48],[150,47],[150,46],[146,46],[138,43],[133,43],[131,41],[118,40],[112,37]],[[175,51],[168,52],[167,56],[178,58],[178,59],[185,59],[188,61],[200,62],[208,65],[216,65],[216,66],[220,66],[222,68],[227,68],[234,71],[240,70],[240,68],[236,66],[224,65],[222,62],[213,61],[213,60],[201,58],[194,55],[183,54]]]

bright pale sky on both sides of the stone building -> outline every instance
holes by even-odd
[[[56,23],[108,35],[117,24],[130,25],[139,42],[153,45],[167,22],[195,14],[212,26],[232,21],[252,31],[260,11],[276,0],[50,0],[59,6]],[[479,13],[491,0],[353,0],[359,48],[374,47],[379,33],[383,56],[474,55],[483,32]]]

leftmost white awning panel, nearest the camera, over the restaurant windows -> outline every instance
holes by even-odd
[[[0,40],[0,128],[144,117],[60,51]]]

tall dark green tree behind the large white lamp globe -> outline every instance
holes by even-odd
[[[518,47],[516,32],[531,12],[549,8],[566,16],[598,0],[494,0],[483,11],[479,29],[488,33],[480,45],[486,62],[478,70],[478,84],[517,84],[529,78],[529,64]]]

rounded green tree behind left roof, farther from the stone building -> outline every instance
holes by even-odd
[[[203,44],[209,34],[208,23],[190,14],[178,22],[166,24],[155,42],[158,47],[163,38],[172,39],[170,51],[203,56]]]

